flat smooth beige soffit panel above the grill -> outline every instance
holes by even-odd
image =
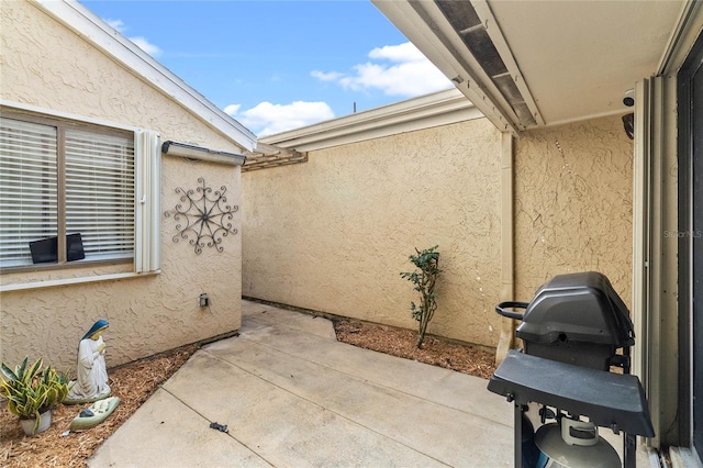
[[[546,123],[625,112],[623,94],[657,74],[680,1],[491,1]]]

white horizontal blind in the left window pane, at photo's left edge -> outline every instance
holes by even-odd
[[[0,266],[32,263],[29,243],[57,235],[57,130],[0,118]]]

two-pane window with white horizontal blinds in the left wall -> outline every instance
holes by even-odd
[[[30,243],[52,237],[64,264],[71,234],[82,261],[133,258],[135,159],[134,132],[0,116],[0,267],[32,265]]]

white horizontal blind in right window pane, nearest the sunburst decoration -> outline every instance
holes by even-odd
[[[86,258],[134,254],[134,136],[66,130],[66,233]]]

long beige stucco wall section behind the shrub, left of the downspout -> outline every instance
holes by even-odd
[[[415,328],[414,247],[439,245],[428,332],[493,346],[500,133],[486,119],[310,153],[243,175],[245,296]]]

